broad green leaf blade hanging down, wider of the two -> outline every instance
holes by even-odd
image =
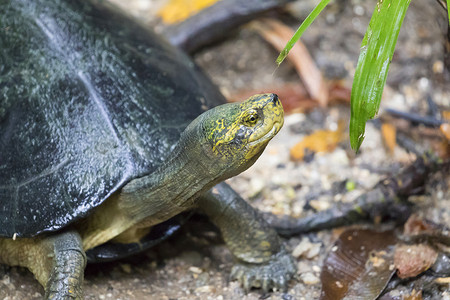
[[[410,2],[378,0],[361,43],[351,95],[350,144],[355,151],[364,140],[366,121],[378,113],[398,33]]]

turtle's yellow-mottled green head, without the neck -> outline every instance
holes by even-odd
[[[197,121],[197,120],[196,120]],[[283,126],[283,107],[275,94],[224,104],[200,115],[204,159],[221,179],[249,168]]]

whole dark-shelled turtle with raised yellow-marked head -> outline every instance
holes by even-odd
[[[101,1],[0,1],[0,263],[81,299],[87,262],[145,250],[192,211],[245,289],[293,258],[224,180],[283,125],[275,94],[226,103],[187,54]]]

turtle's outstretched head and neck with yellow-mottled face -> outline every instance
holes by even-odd
[[[129,182],[81,223],[84,248],[195,208],[201,194],[253,165],[282,125],[283,108],[273,94],[201,114],[182,133],[168,161],[149,176]]]

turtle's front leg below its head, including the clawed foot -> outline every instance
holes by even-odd
[[[238,259],[231,271],[232,279],[237,279],[246,290],[286,290],[296,272],[294,260],[256,210],[225,183],[200,197],[198,205],[219,227]]]

